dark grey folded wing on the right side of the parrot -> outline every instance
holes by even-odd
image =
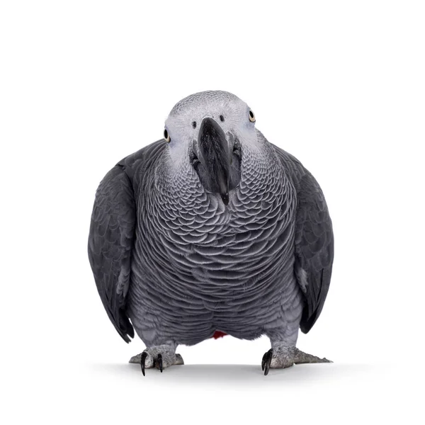
[[[322,312],[331,283],[334,233],[319,183],[297,159],[276,149],[297,191],[295,275],[305,296],[300,329],[307,334]]]

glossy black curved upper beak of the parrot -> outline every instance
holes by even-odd
[[[205,167],[210,188],[220,193],[223,203],[229,203],[229,148],[225,132],[212,118],[200,123],[198,148]]]

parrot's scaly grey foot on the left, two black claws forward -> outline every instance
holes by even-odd
[[[157,368],[164,370],[172,365],[183,365],[183,358],[180,354],[175,353],[175,348],[162,345],[146,348],[142,353],[137,356],[132,356],[129,363],[138,363],[142,368],[143,376],[145,376],[145,369]]]

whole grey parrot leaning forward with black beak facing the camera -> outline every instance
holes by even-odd
[[[270,368],[326,363],[296,348],[322,312],[334,236],[312,174],[256,129],[226,91],[176,103],[164,138],[125,157],[98,186],[89,261],[130,359],[183,364],[179,344],[266,335]]]

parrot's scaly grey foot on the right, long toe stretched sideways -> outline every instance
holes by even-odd
[[[290,368],[294,364],[300,363],[332,363],[327,358],[319,358],[312,354],[303,353],[295,346],[276,346],[270,348],[261,361],[261,369],[264,375],[268,374],[270,368],[283,369]]]

